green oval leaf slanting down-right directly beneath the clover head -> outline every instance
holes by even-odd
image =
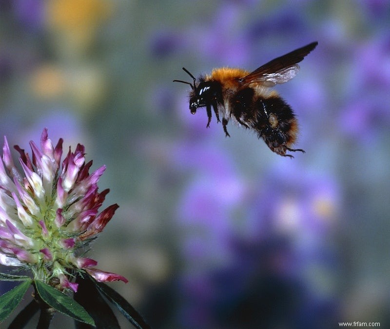
[[[77,321],[95,326],[95,322],[91,316],[74,299],[68,297],[58,289],[43,283],[42,281],[36,280],[35,286],[40,298],[42,298],[46,304]]]

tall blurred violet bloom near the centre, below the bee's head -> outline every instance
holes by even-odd
[[[183,257],[196,259],[198,268],[225,263],[230,257],[231,215],[245,186],[226,156],[216,149],[187,144],[177,149],[175,159],[181,170],[197,169],[177,210]]]

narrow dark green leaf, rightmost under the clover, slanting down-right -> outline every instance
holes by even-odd
[[[92,279],[99,291],[105,296],[111,303],[113,303],[117,309],[129,320],[129,322],[137,329],[150,329],[151,327],[145,322],[142,316],[133,308],[129,302],[127,302],[121,295],[117,293],[113,288],[108,287],[102,282],[96,282]]]

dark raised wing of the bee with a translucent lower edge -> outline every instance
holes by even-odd
[[[299,71],[299,65],[304,57],[309,54],[318,44],[312,42],[302,48],[293,50],[292,52],[275,58],[271,62],[260,66],[252,73],[239,79],[242,85],[250,83],[259,83],[267,87],[272,87],[276,83],[284,83],[291,80]]]

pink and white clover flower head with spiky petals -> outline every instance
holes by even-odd
[[[108,189],[98,192],[101,166],[91,174],[84,146],[78,144],[61,163],[62,139],[54,147],[43,130],[40,149],[30,142],[32,160],[19,146],[21,170],[14,164],[6,137],[0,160],[0,263],[32,271],[34,280],[59,290],[78,284],[85,272],[98,282],[127,280],[94,268],[85,258],[86,247],[100,233],[118,208],[99,213]]]

